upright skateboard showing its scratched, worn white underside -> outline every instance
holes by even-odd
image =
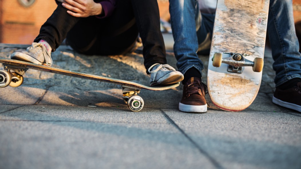
[[[222,110],[241,111],[260,87],[269,0],[218,0],[207,86]]]

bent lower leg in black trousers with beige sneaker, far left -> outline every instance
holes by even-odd
[[[61,45],[67,32],[78,20],[80,18],[67,14],[67,9],[59,4],[53,14],[41,26],[40,33],[32,46],[28,47],[26,51],[14,52],[11,59],[51,66],[51,51],[55,51]]]

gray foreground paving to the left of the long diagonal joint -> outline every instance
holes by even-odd
[[[5,168],[214,168],[159,110],[23,106],[0,117]]]

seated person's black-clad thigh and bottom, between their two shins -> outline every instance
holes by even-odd
[[[67,44],[83,54],[124,54],[138,37],[129,0],[117,1],[110,17],[80,20],[67,34]]]

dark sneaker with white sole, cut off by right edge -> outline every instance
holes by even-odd
[[[276,88],[273,103],[301,112],[301,82],[297,86],[286,90]]]

